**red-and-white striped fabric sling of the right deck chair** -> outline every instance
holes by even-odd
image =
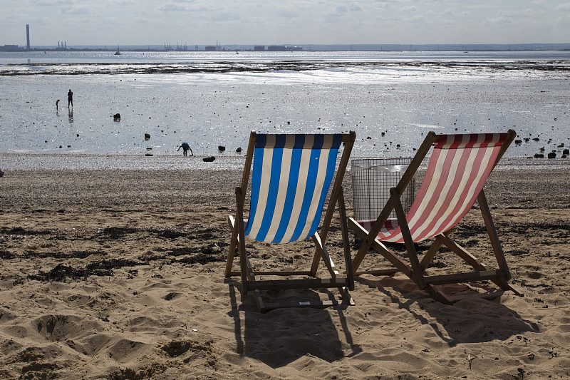
[[[406,215],[414,242],[450,230],[467,214],[508,137],[508,133],[439,135],[418,195]],[[374,222],[358,223],[371,230]],[[398,220],[386,220],[377,239],[403,242]]]

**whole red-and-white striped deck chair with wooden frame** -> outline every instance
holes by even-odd
[[[487,177],[497,165],[505,150],[509,147],[516,133],[475,133],[462,135],[427,134],[408,169],[395,188],[390,189],[390,199],[380,212],[377,220],[354,220],[349,218],[348,225],[363,239],[358,253],[353,260],[353,271],[356,275],[369,273],[375,275],[403,272],[410,277],[420,289],[427,291],[434,299],[445,304],[452,304],[468,297],[493,299],[499,297],[504,290],[511,290],[522,296],[507,283],[511,279],[507,261],[492,222],[489,206],[483,192]],[[403,194],[411,178],[418,170],[422,160],[434,146],[425,177],[420,185],[418,195],[410,211],[406,215],[400,196]],[[450,237],[450,231],[460,222],[474,205],[479,202],[482,219],[487,228],[497,269],[489,269],[480,260],[460,247]],[[396,218],[390,219],[392,210]],[[422,260],[418,257],[415,243],[426,239],[434,239]],[[409,263],[388,249],[384,242],[402,243],[408,252]],[[470,272],[446,273],[429,276],[427,266],[434,259],[440,248],[445,246],[465,260]],[[371,248],[383,255],[393,267],[390,269],[358,272],[361,262]],[[467,292],[448,296],[438,285],[481,282],[489,280],[497,284],[498,292]]]

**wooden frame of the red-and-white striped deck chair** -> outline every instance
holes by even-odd
[[[500,158],[504,154],[505,150],[509,147],[512,140],[515,138],[516,133],[514,130],[509,130],[509,136],[507,140],[502,144],[497,159],[493,164],[493,168],[497,165]],[[390,199],[386,203],[383,210],[380,212],[378,216],[378,220],[372,225],[371,230],[368,231],[363,228],[356,220],[352,217],[348,219],[348,225],[351,227],[356,234],[356,236],[360,237],[363,240],[363,243],[358,250],[358,253],[353,259],[353,271],[355,275],[360,274],[373,274],[373,275],[389,275],[394,274],[395,272],[402,272],[406,276],[410,277],[410,279],[415,282],[420,289],[425,290],[431,297],[436,299],[438,302],[442,302],[444,304],[453,304],[454,302],[459,301],[460,299],[470,298],[470,297],[480,297],[484,299],[494,299],[499,297],[505,290],[510,290],[517,294],[518,296],[522,297],[522,293],[520,293],[517,289],[514,289],[510,284],[507,283],[509,279],[511,279],[511,274],[509,272],[509,267],[507,266],[507,260],[504,258],[504,253],[502,251],[501,244],[499,242],[499,237],[497,235],[497,230],[494,227],[492,222],[491,213],[489,212],[489,205],[487,204],[487,199],[484,195],[484,191],[481,190],[479,195],[477,196],[477,202],[479,203],[480,210],[482,213],[482,218],[484,221],[484,225],[487,229],[487,234],[489,235],[489,240],[492,245],[492,250],[494,252],[494,256],[497,260],[498,269],[489,269],[487,266],[483,265],[477,257],[473,256],[470,252],[467,252],[465,248],[460,247],[456,242],[454,242],[450,238],[450,230],[440,233],[439,235],[435,236],[434,241],[430,248],[425,252],[422,260],[418,257],[418,252],[415,249],[415,242],[413,241],[412,236],[410,235],[410,230],[408,227],[408,222],[406,220],[406,215],[403,210],[402,202],[400,201],[400,197],[403,194],[405,188],[408,186],[408,183],[413,178],[413,175],[418,171],[420,164],[422,163],[423,159],[430,151],[432,144],[437,143],[439,136],[433,132],[427,134],[423,144],[418,149],[418,152],[415,154],[412,162],[408,166],[408,169],[403,174],[402,178],[398,185],[395,188],[390,189]],[[378,240],[377,236],[380,232],[380,229],[384,225],[385,221],[388,220],[390,213],[395,210],[396,216],[398,218],[398,225],[400,226],[400,230],[403,235],[403,240],[405,244],[405,249],[408,254],[408,262],[402,260],[398,255],[392,252],[388,247],[386,247],[383,242]],[[455,225],[454,225],[455,226]],[[444,246],[449,248],[455,255],[459,256],[467,262],[471,267],[475,270],[473,272],[464,272],[464,273],[455,273],[455,274],[442,274],[442,275],[435,275],[429,276],[426,274],[427,266],[430,265],[430,262],[434,259],[437,252],[440,250],[440,247]],[[375,250],[376,252],[380,253],[383,257],[385,257],[388,262],[390,262],[393,267],[388,269],[377,269],[377,270],[368,270],[368,271],[358,271],[358,267],[360,267],[361,262],[363,261],[364,257],[368,253],[369,250]],[[465,282],[478,282],[483,280],[489,280],[497,284],[497,287],[502,289],[499,292],[485,292],[480,294],[468,294],[468,295],[459,295],[455,297],[450,297],[447,294],[437,289],[437,285],[441,284],[457,284],[457,283],[465,283]]]

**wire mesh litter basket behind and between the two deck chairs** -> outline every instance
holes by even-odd
[[[398,185],[412,158],[361,158],[351,160],[351,178],[356,220],[374,220],[390,198],[390,188]],[[415,178],[400,197],[408,212],[415,200]],[[390,217],[396,217],[393,211]]]

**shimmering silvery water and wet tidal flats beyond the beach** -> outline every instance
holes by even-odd
[[[430,130],[570,147],[570,51],[0,52],[0,82],[0,169],[239,166],[251,130],[355,130],[355,158],[411,157]]]

